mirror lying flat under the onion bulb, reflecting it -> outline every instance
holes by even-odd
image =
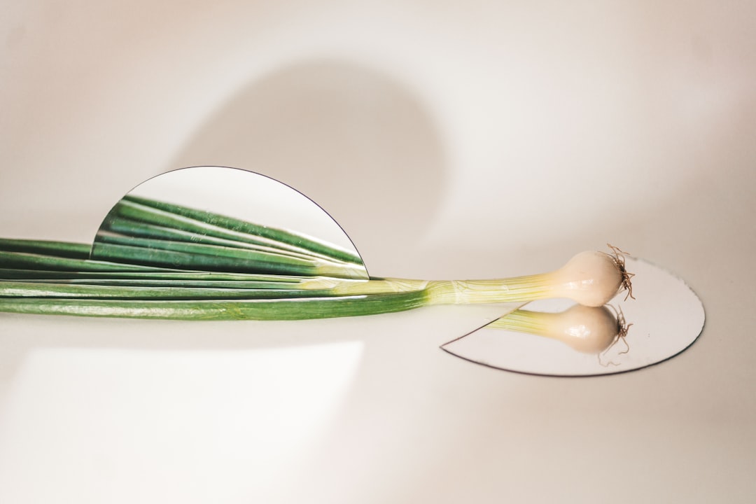
[[[647,261],[627,258],[627,270],[634,299],[620,292],[601,307],[533,301],[442,348],[485,366],[550,376],[624,373],[680,354],[703,329],[698,296]]]

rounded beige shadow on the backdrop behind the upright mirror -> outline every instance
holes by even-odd
[[[370,256],[398,255],[441,202],[447,169],[435,121],[401,83],[313,60],[252,82],[197,129],[172,168],[225,165],[289,184]],[[378,260],[380,261],[380,260]]]

